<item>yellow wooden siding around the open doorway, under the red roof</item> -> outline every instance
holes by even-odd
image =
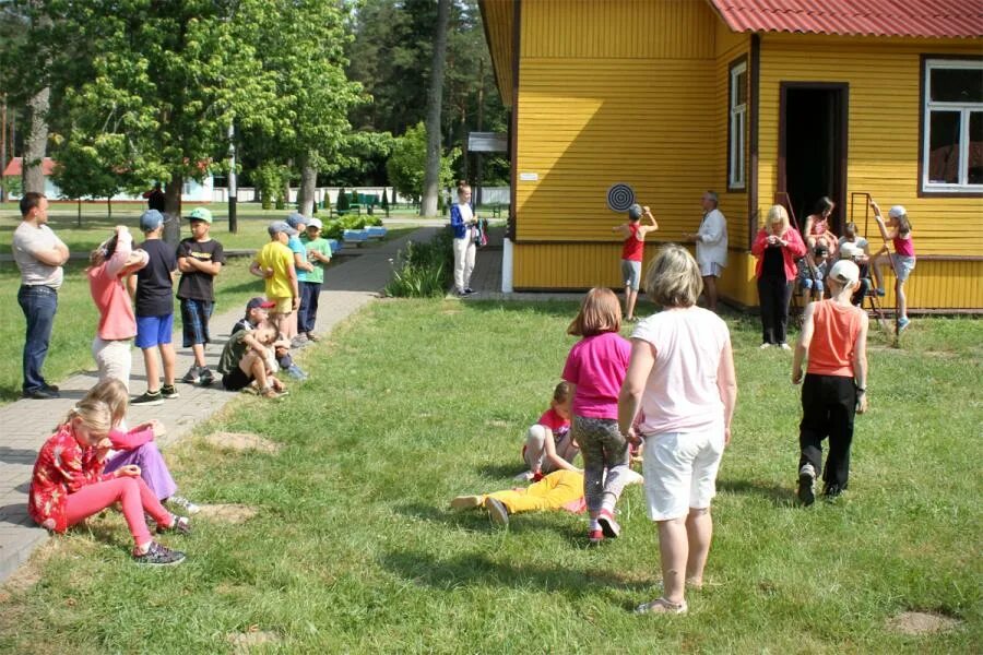
[[[821,44],[821,45],[820,45]],[[844,82],[850,85],[846,198],[874,195],[886,211],[903,204],[919,254],[981,255],[983,198],[919,198],[921,55],[979,56],[983,39],[897,43],[889,39],[765,35],[761,45],[759,204],[770,204],[778,183],[779,85]],[[844,207],[849,212],[849,207]],[[844,213],[844,216],[849,215]],[[863,229],[863,214],[854,216]],[[873,230],[873,223],[872,228]],[[876,236],[874,235],[868,236]]]

